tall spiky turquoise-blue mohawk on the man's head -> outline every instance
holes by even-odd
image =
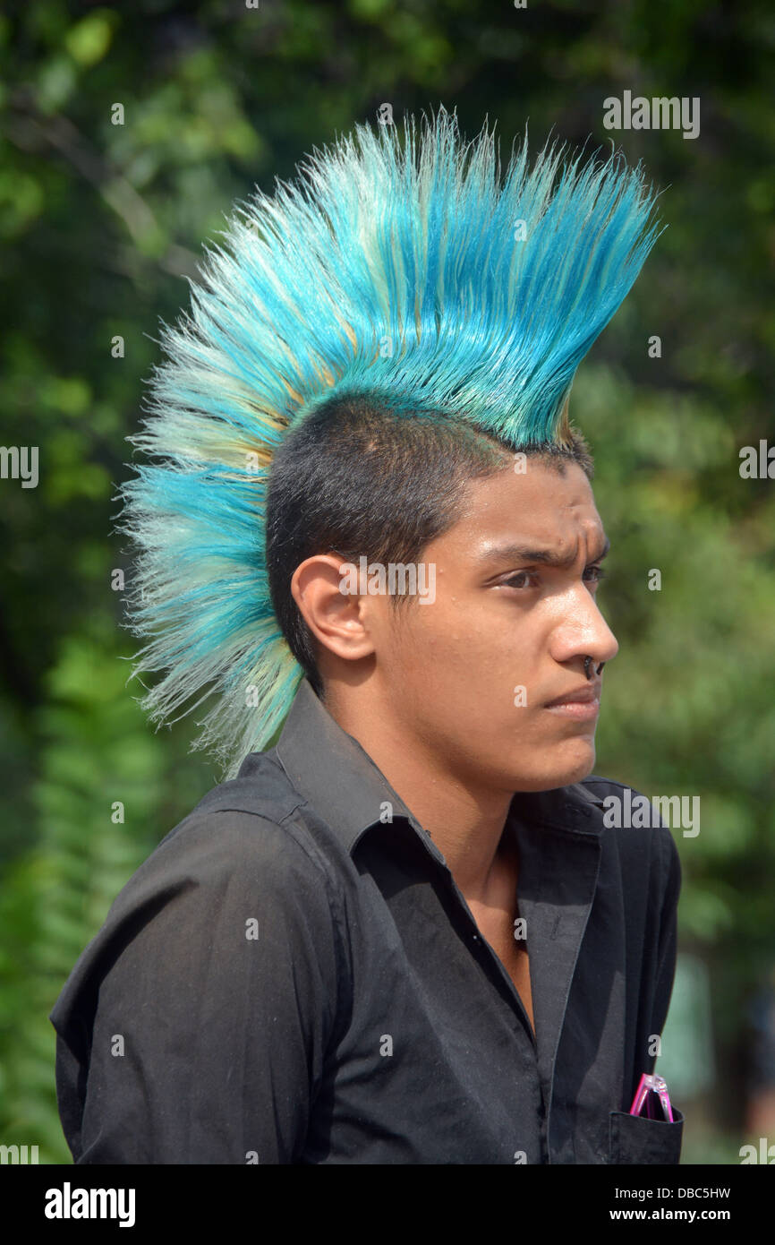
[[[387,388],[509,446],[565,443],[576,369],[658,237],[639,164],[564,164],[547,143],[529,169],[525,141],[501,181],[486,122],[470,143],[443,107],[417,128],[404,118],[402,144],[357,125],[274,197],[255,188],[228,249],[205,248],[190,316],[164,325],[151,415],[128,438],[157,459],[121,489],[129,625],[147,639],[136,674],[164,672],[142,703],[162,722],[213,693],[193,746],[229,777],[302,675],[265,555],[286,430],[332,395]]]

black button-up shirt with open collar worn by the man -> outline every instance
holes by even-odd
[[[76,1163],[677,1163],[631,1117],[675,967],[669,829],[515,794],[535,1040],[439,849],[304,680],[134,873],[51,1012]],[[392,817],[392,820],[389,818]]]

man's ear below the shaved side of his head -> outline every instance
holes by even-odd
[[[313,554],[296,566],[291,594],[310,631],[330,652],[346,661],[373,654],[368,596],[360,593],[351,563],[338,554]]]

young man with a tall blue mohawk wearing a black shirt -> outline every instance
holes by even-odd
[[[51,1013],[65,1133],[77,1163],[677,1163],[680,1112],[629,1107],[680,869],[587,777],[617,641],[567,418],[652,203],[524,148],[501,187],[444,110],[358,139],[233,223],[138,438],[148,705],[220,692],[230,778]]]

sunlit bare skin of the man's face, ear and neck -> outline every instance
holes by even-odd
[[[587,685],[585,656],[596,670],[617,654],[596,600],[607,540],[572,462],[561,474],[529,458],[525,474],[473,481],[459,513],[422,554],[435,564],[433,604],[394,613],[386,595],[342,595],[333,554],[306,559],[291,589],[317,641],[326,708],[430,833],[471,910],[510,918],[500,905],[516,860],[501,834],[513,794],[595,768],[597,717],[545,705]]]

